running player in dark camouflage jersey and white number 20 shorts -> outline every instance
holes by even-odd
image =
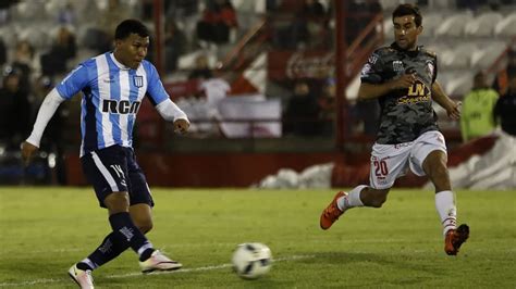
[[[447,154],[432,101],[458,120],[459,103],[452,101],[437,79],[437,56],[417,46],[422,16],[413,4],[398,5],[393,14],[394,43],[377,49],[364,65],[358,98],[378,99],[381,122],[371,152],[369,186],[340,191],[320,216],[322,229],[357,206],[381,208],[397,177],[410,169],[427,175],[435,187],[435,208],[443,225],[444,251],[456,255],[469,236],[456,226],[455,194],[446,167]]]

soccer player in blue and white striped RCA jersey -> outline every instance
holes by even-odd
[[[113,52],[89,59],[72,71],[42,102],[30,136],[22,143],[26,163],[58,106],[82,92],[81,162],[100,206],[108,209],[112,231],[69,275],[82,288],[94,288],[91,272],[127,248],[139,255],[142,272],[179,269],[182,264],[156,250],[145,234],[152,228],[152,196],[136,162],[133,126],[146,96],[160,115],[186,133],[186,114],[169,98],[156,67],[144,60],[149,32],[136,20],[119,24]]]

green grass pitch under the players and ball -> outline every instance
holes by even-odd
[[[471,228],[458,256],[443,251],[433,192],[393,189],[378,209],[333,227],[319,215],[334,190],[153,189],[157,247],[184,264],[142,275],[134,252],[94,272],[98,288],[515,288],[516,191],[457,191]],[[110,230],[89,188],[0,188],[0,287],[74,288],[67,268]],[[241,242],[268,244],[271,272],[243,280]]]

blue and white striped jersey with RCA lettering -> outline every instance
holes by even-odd
[[[136,113],[145,95],[153,105],[169,98],[150,62],[144,60],[132,70],[112,52],[81,63],[56,88],[66,100],[83,92],[81,156],[113,144],[131,148]]]

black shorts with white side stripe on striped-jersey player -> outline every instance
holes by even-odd
[[[146,203],[153,206],[149,186],[133,149],[111,146],[90,151],[81,158],[81,163],[100,206],[106,208],[103,200],[113,191],[127,191],[131,205]]]

